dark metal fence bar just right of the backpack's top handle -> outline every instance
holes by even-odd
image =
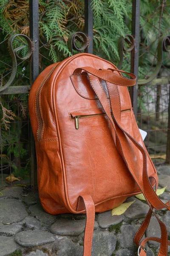
[[[138,67],[139,67],[139,28],[140,28],[140,0],[132,2],[132,35],[135,38],[135,45],[131,51],[131,73],[136,76],[136,85],[130,87],[130,98],[135,117],[137,117],[137,98],[138,98]]]

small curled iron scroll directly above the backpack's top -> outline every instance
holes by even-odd
[[[81,43],[81,47],[78,47],[76,42]],[[84,51],[88,47],[88,37],[83,32],[74,32],[68,38],[68,49],[73,54],[73,50]]]

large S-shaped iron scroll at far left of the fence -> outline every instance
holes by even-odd
[[[20,51],[21,49],[26,47],[26,45],[17,47],[15,49],[13,49],[13,46],[12,46],[12,43],[17,36],[22,36],[23,38],[26,39],[26,41],[28,43],[28,52],[27,52],[26,56],[23,58],[18,55],[18,51]],[[7,83],[4,86],[0,87],[0,92],[7,89],[14,81],[14,78],[17,73],[17,58],[25,61],[31,57],[32,52],[33,52],[33,43],[31,42],[30,38],[28,38],[28,36],[26,36],[26,35],[23,35],[23,34],[11,35],[11,37],[8,40],[8,49],[9,49],[9,52],[10,52],[10,55],[12,58],[12,71],[11,71],[11,76],[10,76],[9,80],[7,81]]]

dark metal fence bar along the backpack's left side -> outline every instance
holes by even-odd
[[[39,75],[39,21],[38,21],[38,0],[29,1],[29,21],[30,21],[30,39],[33,42],[33,54],[30,65],[30,82],[31,85]],[[36,154],[34,136],[31,130],[31,188],[35,188],[36,180]]]

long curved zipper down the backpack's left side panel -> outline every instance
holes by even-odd
[[[59,63],[57,63],[58,65]],[[44,126],[44,119],[42,116],[42,110],[41,110],[41,91],[42,91],[42,87],[44,86],[45,82],[48,80],[48,78],[51,76],[51,74],[53,73],[54,69],[57,67],[57,65],[55,65],[54,67],[52,67],[52,69],[47,73],[47,75],[44,77],[44,79],[42,80],[40,86],[38,87],[37,90],[37,95],[36,95],[36,107],[37,107],[37,120],[38,120],[38,129],[37,129],[37,140],[42,140],[42,132],[43,132],[43,126]]]

